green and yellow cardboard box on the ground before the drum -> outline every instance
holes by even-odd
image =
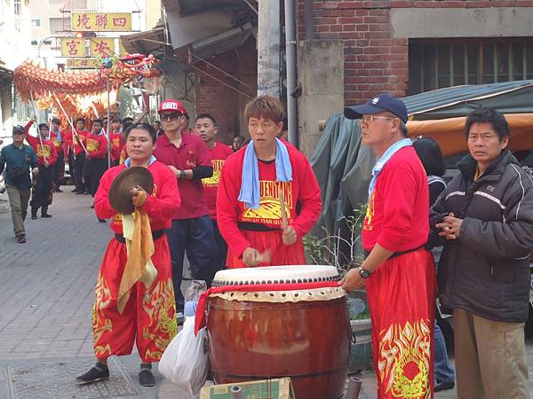
[[[200,399],[233,399],[232,387],[235,386],[243,389],[240,396],[243,399],[295,399],[289,377],[211,385],[202,388]]]

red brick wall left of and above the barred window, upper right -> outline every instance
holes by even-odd
[[[305,0],[297,0],[298,40],[305,40]],[[316,39],[345,41],[345,103],[362,102],[382,91],[405,96],[408,38],[394,38],[393,8],[531,7],[531,0],[370,0],[314,1]],[[450,27],[453,28],[453,27]]]

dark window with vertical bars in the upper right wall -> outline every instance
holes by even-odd
[[[533,39],[413,40],[409,94],[461,84],[533,79]]]

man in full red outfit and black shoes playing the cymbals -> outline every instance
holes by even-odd
[[[102,176],[95,197],[95,212],[99,218],[113,219],[111,229],[115,237],[107,246],[99,270],[96,299],[92,313],[94,354],[97,363],[76,379],[80,385],[109,378],[107,358],[131,354],[135,343],[141,359],[139,383],[143,387],[155,385],[151,372],[152,363],[158,362],[164,349],[177,332],[174,308],[174,293],[171,282],[171,254],[164,230],[171,227],[171,219],[179,208],[179,192],[176,177],[163,163],[152,156],[155,148],[155,129],[147,123],[135,124],[126,133],[126,145],[130,158],[123,165],[110,168]],[[134,230],[131,215],[117,212],[109,202],[111,184],[123,170],[130,167],[147,168],[154,178],[153,192],[143,189],[131,190],[131,201],[138,217],[146,213],[150,223],[154,254],[151,262],[142,264],[139,280],[129,279],[125,272],[128,262],[127,222]],[[125,230],[125,231],[124,231]],[[124,238],[126,236],[126,238]],[[130,237],[131,238],[131,237]],[[135,242],[133,235],[131,242]],[[151,272],[150,272],[151,270]],[[155,271],[155,273],[154,273]],[[125,287],[133,286],[123,293],[120,287],[126,276]]]

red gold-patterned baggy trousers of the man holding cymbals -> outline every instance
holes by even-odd
[[[131,288],[123,314],[116,309],[116,301],[127,260],[126,245],[112,239],[107,246],[92,308],[92,333],[97,358],[130,355],[136,341],[142,361],[157,362],[176,335],[171,254],[166,236],[156,239],[154,245],[152,262],[157,278],[148,290],[142,282]]]

